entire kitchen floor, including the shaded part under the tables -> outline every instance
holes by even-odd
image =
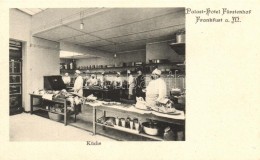
[[[50,120],[45,111],[33,115],[22,113],[10,116],[10,141],[152,141],[144,136],[99,125],[96,128],[97,134],[93,136],[92,112],[92,107],[83,106],[82,112],[77,115],[77,121],[74,122],[74,116],[71,116],[67,126],[64,126],[62,121]],[[107,113],[106,116],[126,118],[128,115]],[[98,110],[97,118],[99,117],[102,117],[102,111]]]

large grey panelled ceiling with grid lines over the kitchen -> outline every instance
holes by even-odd
[[[33,36],[124,53],[145,49],[147,43],[172,41],[175,33],[185,28],[184,8],[111,8],[84,18],[79,14],[77,20],[35,32]],[[84,28],[80,29],[82,22]]]

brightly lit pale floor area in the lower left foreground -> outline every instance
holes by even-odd
[[[10,116],[10,141],[113,141],[63,123],[22,113]]]

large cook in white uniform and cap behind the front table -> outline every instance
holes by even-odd
[[[156,107],[158,101],[166,97],[166,83],[161,78],[161,73],[157,68],[152,72],[152,80],[146,88],[146,105],[148,107]]]

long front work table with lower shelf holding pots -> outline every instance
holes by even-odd
[[[90,105],[93,107],[93,135],[96,134],[97,129],[96,126],[102,126],[102,128],[105,130],[106,128],[110,128],[110,129],[114,129],[114,130],[118,130],[124,133],[129,133],[132,135],[136,135],[138,137],[144,137],[147,139],[152,139],[152,140],[156,140],[156,141],[163,141],[163,128],[165,123],[167,124],[171,124],[171,125],[178,125],[178,126],[185,126],[185,116],[183,114],[180,115],[162,115],[162,114],[153,114],[151,111],[143,111],[143,110],[138,110],[136,108],[134,108],[132,105],[128,105],[126,107],[121,107],[121,106],[107,106],[107,105],[92,105],[91,103],[88,103],[86,105]],[[99,119],[97,119],[97,110],[101,110],[103,111],[103,121],[99,121]],[[134,130],[135,129],[135,125],[133,125],[133,129],[130,129],[131,124],[129,124],[129,121],[127,123],[127,120],[125,121],[125,127],[122,127],[122,120],[119,120],[119,122],[115,119],[113,120],[113,117],[111,119],[111,117],[107,117],[106,116],[106,112],[111,112],[111,113],[117,113],[117,114],[127,114],[129,117],[138,117],[137,122],[139,123],[139,130]],[[107,121],[106,118],[108,118]],[[160,123],[161,126],[158,126],[160,128],[160,130],[158,131],[157,134],[155,135],[149,135],[146,134],[145,131],[143,130],[143,123],[141,124],[139,122],[139,118],[140,119],[150,119],[153,121],[159,121],[162,122]],[[124,119],[124,118],[122,118]],[[115,121],[115,122],[113,122]],[[142,121],[142,120],[141,120]],[[117,124],[117,125],[116,125]],[[140,131],[140,132],[139,132]],[[100,132],[100,131],[99,131]],[[111,134],[111,133],[110,133]],[[109,135],[107,134],[106,136],[113,136],[114,135]],[[121,139],[124,140],[124,139]]]

